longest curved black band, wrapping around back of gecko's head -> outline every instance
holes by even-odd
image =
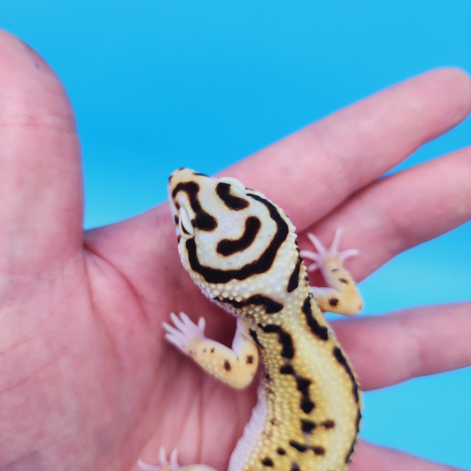
[[[188,239],[186,242],[188,260],[190,261],[191,268],[194,272],[199,273],[208,283],[227,283],[230,280],[245,280],[253,275],[268,272],[273,265],[276,254],[281,247],[281,244],[286,240],[290,232],[288,224],[281,217],[275,205],[258,195],[248,195],[251,198],[260,201],[264,204],[270,213],[270,217],[275,221],[277,229],[275,235],[270,241],[267,249],[260,255],[257,260],[254,260],[247,265],[235,270],[221,270],[206,265],[201,265],[196,253],[196,242],[193,238]]]

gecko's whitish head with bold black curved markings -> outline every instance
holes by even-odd
[[[213,299],[249,293],[290,232],[279,208],[234,178],[176,170],[169,200],[183,266]]]

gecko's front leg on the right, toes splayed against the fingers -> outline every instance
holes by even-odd
[[[358,293],[355,281],[349,272],[343,267],[343,262],[359,252],[355,249],[339,251],[342,229],[335,231],[334,239],[329,248],[324,247],[321,241],[314,235],[308,234],[308,238],[314,245],[316,252],[301,250],[301,257],[310,259],[313,263],[308,265],[308,271],[319,269],[326,281],[328,288],[310,286],[310,291],[316,299],[322,311],[335,312],[351,316],[361,311],[363,302]]]

